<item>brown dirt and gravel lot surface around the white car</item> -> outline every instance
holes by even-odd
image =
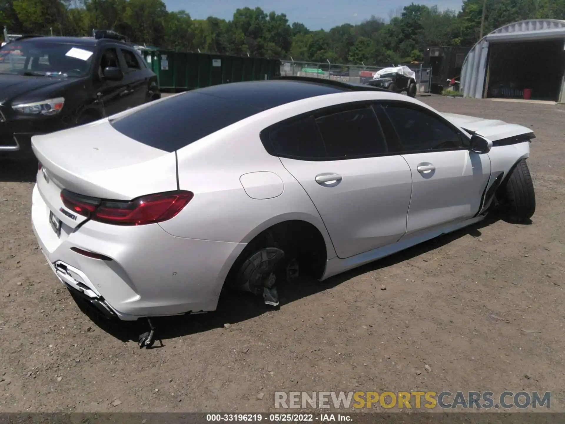
[[[564,411],[565,108],[422,99],[534,129],[532,224],[489,219],[301,280],[277,311],[242,296],[166,319],[164,347],[150,350],[132,341],[137,327],[101,327],[77,308],[37,249],[34,171],[0,163],[0,412],[264,412],[290,390],[552,391]]]

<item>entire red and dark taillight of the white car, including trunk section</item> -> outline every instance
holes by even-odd
[[[100,200],[63,190],[68,209],[98,222],[114,225],[145,225],[163,222],[178,214],[194,197],[189,191],[149,194],[131,201]]]

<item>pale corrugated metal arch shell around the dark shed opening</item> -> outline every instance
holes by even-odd
[[[486,34],[467,54],[461,69],[464,97],[483,98],[486,54],[490,43],[565,39],[565,20],[529,19],[514,22]]]

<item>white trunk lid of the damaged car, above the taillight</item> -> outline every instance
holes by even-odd
[[[175,153],[132,140],[107,119],[34,136],[32,148],[42,165],[38,191],[49,210],[71,228],[86,217],[69,214],[60,198],[62,189],[110,200],[177,189]]]

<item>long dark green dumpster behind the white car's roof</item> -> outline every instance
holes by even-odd
[[[142,51],[157,74],[160,89],[180,92],[236,81],[268,80],[280,75],[280,60],[231,55]]]

